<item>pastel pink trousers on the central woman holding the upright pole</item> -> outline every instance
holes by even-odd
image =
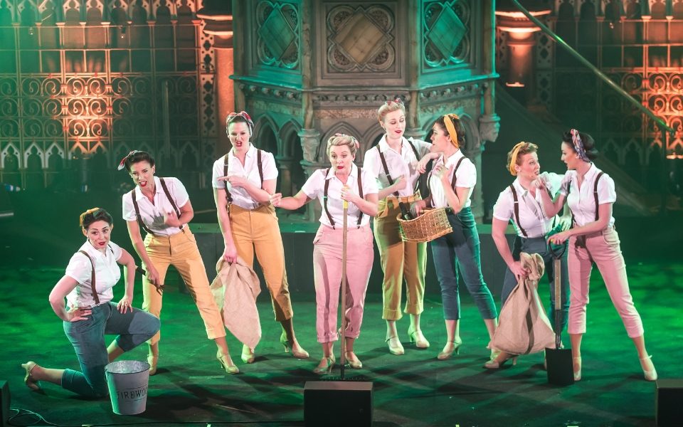
[[[357,338],[361,333],[365,292],[374,259],[370,226],[356,228],[354,218],[354,224],[349,224],[346,242],[346,280],[349,288],[346,289],[344,337]],[[342,289],[342,226],[334,229],[321,225],[313,245],[315,329],[318,342],[333,342],[339,339],[337,310]]]

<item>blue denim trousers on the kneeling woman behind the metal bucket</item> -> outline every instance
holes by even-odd
[[[117,334],[118,346],[127,352],[157,333],[159,319],[137,308],[122,314],[113,302],[91,310],[86,320],[63,322],[64,333],[78,357],[80,372],[65,369],[62,387],[83,396],[104,397],[108,394],[105,366],[109,363],[105,334]]]

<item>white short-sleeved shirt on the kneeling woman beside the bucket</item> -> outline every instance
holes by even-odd
[[[100,305],[110,302],[114,297],[112,288],[121,278],[121,269],[116,261],[121,258],[121,248],[114,242],[109,242],[107,251],[97,251],[90,241],[85,241],[79,251],[85,251],[95,264],[95,289]],[[77,252],[71,256],[69,265],[66,266],[66,275],[78,282],[69,295],[66,295],[68,307],[95,307],[95,298],[92,297],[92,266],[90,260]]]

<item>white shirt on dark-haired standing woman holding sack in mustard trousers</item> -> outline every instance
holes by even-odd
[[[213,176],[211,177],[213,188],[230,191],[233,204],[240,206],[242,209],[253,210],[258,208],[258,201],[252,199],[245,189],[241,187],[233,188],[227,181],[218,181],[218,178],[221,176],[226,176],[224,159],[225,156],[221,156],[216,162],[213,162]],[[263,181],[277,179],[275,157],[271,153],[263,151],[263,149],[261,150],[261,169],[263,170]],[[233,154],[233,150],[230,150],[228,152],[228,175],[242,176],[255,186],[258,186],[258,188],[261,188],[261,176],[258,173],[258,149],[250,145],[244,158],[244,164]]]

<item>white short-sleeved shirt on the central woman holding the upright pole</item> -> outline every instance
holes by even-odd
[[[328,171],[327,174],[325,174],[325,171]],[[328,179],[329,187],[327,188],[327,211],[329,211],[330,216],[332,216],[334,226],[342,226],[342,223],[344,223],[344,206],[342,201],[342,186],[344,186],[344,183],[342,183],[342,181],[337,178],[337,175],[334,174],[334,169],[318,169],[317,171],[313,172],[313,174],[309,176],[309,179],[306,180],[304,186],[301,187],[301,191],[303,191],[304,194],[309,197],[309,199],[318,199],[320,201],[320,206],[323,206],[322,215],[320,215],[320,223],[331,227],[332,223],[329,222],[329,218],[327,218],[327,214],[325,214],[323,199],[325,181]],[[361,169],[361,181],[363,187],[363,196],[378,193],[377,181],[375,180],[375,177],[365,169]],[[349,179],[346,180],[346,185],[349,186],[351,191],[359,194],[358,167],[356,167],[355,164],[351,164],[351,174],[349,174]],[[358,206],[349,202],[349,217],[346,220],[348,221],[349,227],[356,225],[359,214],[360,209],[358,209]],[[370,217],[366,214],[363,214],[361,226],[366,226],[369,223]]]

